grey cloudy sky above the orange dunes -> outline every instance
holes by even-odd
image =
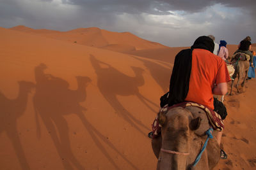
[[[218,43],[256,42],[256,0],[0,0],[0,27],[68,31],[99,27],[131,32],[167,46],[191,46],[213,34]]]

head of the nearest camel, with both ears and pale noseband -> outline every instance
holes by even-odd
[[[191,141],[200,122],[200,117],[193,118],[190,111],[179,107],[159,114],[162,143],[157,169],[188,169],[195,160],[189,158]]]

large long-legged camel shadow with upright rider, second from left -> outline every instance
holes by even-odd
[[[99,141],[97,136],[104,141],[109,147],[115,150],[121,157],[124,158],[134,169],[136,167],[129,162],[116,148],[103,136],[90,122],[84,117],[83,108],[79,103],[86,99],[86,86],[91,81],[88,77],[77,76],[77,90],[68,89],[68,82],[52,76],[51,74],[45,74],[45,64],[40,64],[35,68],[36,78],[36,92],[34,101],[34,107],[36,115],[40,115],[42,118],[47,131],[49,132],[54,145],[60,155],[63,166],[65,169],[73,169],[71,163],[77,169],[84,169],[79,161],[72,153],[70,138],[68,136],[68,124],[64,118],[64,115],[76,114],[81,119],[84,127],[89,132],[93,141],[100,149],[100,151],[106,156],[106,158],[115,166],[115,169],[119,169],[116,166],[111,156],[108,154],[102,143]],[[38,124],[38,118],[36,117],[38,125],[38,135],[40,137],[40,127]],[[56,128],[55,128],[56,127]],[[58,135],[58,134],[59,135]],[[60,136],[60,138],[58,138]]]

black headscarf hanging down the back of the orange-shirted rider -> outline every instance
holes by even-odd
[[[170,80],[168,106],[182,103],[188,95],[192,52],[195,48],[208,50],[212,53],[214,50],[214,42],[208,36],[200,36],[190,49],[181,50],[176,55]]]

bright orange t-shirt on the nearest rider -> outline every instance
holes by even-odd
[[[196,48],[192,53],[189,90],[185,101],[204,104],[214,110],[214,84],[228,81],[230,76],[225,61],[208,50]]]

